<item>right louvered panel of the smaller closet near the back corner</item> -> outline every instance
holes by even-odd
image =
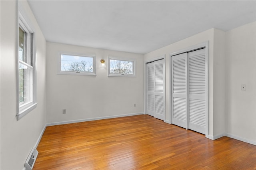
[[[164,59],[154,61],[155,68],[155,115],[157,119],[164,120]]]

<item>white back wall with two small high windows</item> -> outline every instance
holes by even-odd
[[[46,49],[47,123],[143,113],[143,55],[50,42]],[[97,75],[58,75],[59,52],[96,54]],[[108,77],[100,67],[108,55],[136,59],[136,77]]]

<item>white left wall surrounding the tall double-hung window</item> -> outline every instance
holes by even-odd
[[[1,3],[1,167],[19,170],[46,125],[46,41],[26,1]],[[16,120],[16,51],[18,49],[18,4],[32,24],[36,41],[36,109]]]

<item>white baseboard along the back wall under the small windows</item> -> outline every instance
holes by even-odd
[[[144,115],[144,113],[130,113],[125,115],[114,115],[114,116],[106,116],[106,117],[95,117],[95,118],[89,118],[89,119],[79,119],[79,120],[73,120],[73,121],[54,122],[54,123],[47,123],[46,127],[54,126],[54,125],[64,125],[69,123],[96,121],[101,119],[111,119],[111,118],[117,118],[117,117],[135,116],[135,115]]]

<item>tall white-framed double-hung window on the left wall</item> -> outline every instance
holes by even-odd
[[[36,107],[34,32],[21,14],[18,25],[17,120]]]

